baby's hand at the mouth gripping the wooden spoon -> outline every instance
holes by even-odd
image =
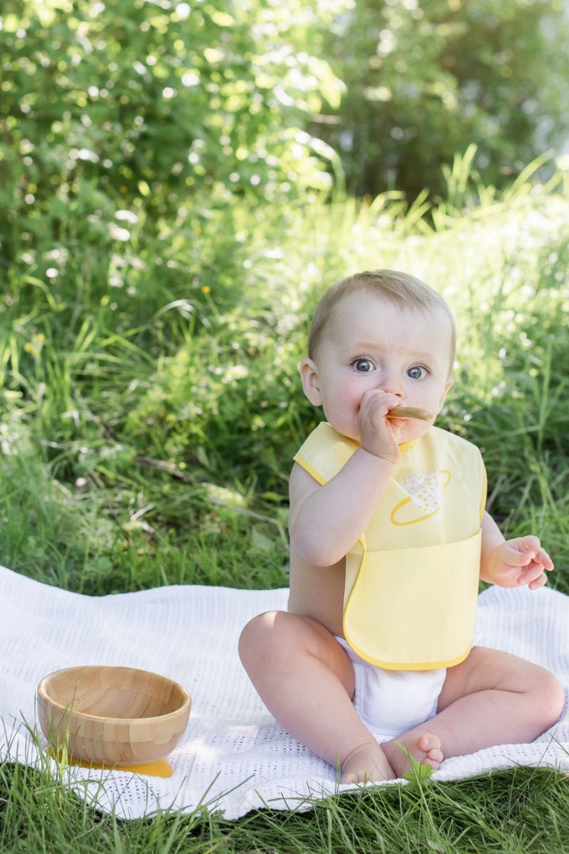
[[[403,422],[399,418],[386,418],[386,414],[400,402],[397,395],[380,389],[367,389],[363,392],[357,415],[362,447],[390,463],[399,459],[399,434]]]

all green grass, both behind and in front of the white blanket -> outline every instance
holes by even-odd
[[[311,308],[342,275],[392,266],[455,308],[439,423],[483,448],[491,512],[542,537],[569,593],[566,188],[459,189],[431,211],[397,194],[262,216],[235,202],[199,245],[183,223],[133,229],[111,262],[80,221],[66,246],[22,243],[0,303],[0,562],[84,594],[285,586],[287,473],[319,418],[297,375]],[[569,851],[567,787],[515,769],[238,822],[119,822],[4,763],[0,850]]]

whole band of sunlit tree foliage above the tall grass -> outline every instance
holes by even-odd
[[[310,197],[340,158],[414,197],[476,143],[500,184],[567,132],[567,35],[561,0],[4,0],[0,263]]]

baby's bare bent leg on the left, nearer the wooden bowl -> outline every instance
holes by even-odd
[[[380,745],[351,704],[354,673],[334,635],[310,617],[270,611],[247,623],[241,662],[276,720],[342,782],[391,780]]]

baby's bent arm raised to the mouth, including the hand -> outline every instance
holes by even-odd
[[[398,419],[386,418],[398,402],[382,391],[363,393],[358,413],[362,447],[328,483],[320,486],[299,465],[293,466],[290,538],[309,564],[336,564],[369,524],[398,459]]]

